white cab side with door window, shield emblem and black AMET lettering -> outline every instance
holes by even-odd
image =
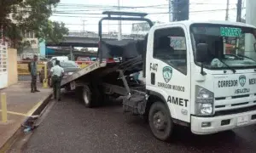
[[[151,44],[150,44],[151,43]],[[189,122],[190,59],[185,26],[159,26],[148,34],[147,89],[161,95],[172,118]]]

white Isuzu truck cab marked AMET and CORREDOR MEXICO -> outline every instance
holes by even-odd
[[[145,71],[149,99],[157,97],[172,122],[184,122],[196,134],[255,124],[256,61],[244,55],[255,54],[255,35],[254,26],[228,21],[153,26]],[[231,54],[226,44],[234,46]],[[166,139],[168,133],[160,134],[166,117],[159,110],[150,127],[158,139]]]

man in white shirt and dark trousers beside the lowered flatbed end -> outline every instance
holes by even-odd
[[[55,60],[55,66],[50,69],[51,83],[54,92],[54,98],[61,100],[61,79],[64,76],[64,70],[60,66],[60,60]]]

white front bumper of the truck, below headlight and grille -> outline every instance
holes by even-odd
[[[236,127],[244,127],[256,124],[255,116],[256,111],[215,117],[191,116],[191,131],[195,134],[210,134],[230,130]],[[202,127],[202,123],[207,122],[211,122],[210,126]]]

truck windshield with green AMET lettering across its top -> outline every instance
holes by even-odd
[[[256,29],[245,26],[194,24],[190,26],[190,31],[194,57],[196,45],[207,43],[207,57],[203,63],[206,68],[256,67],[255,59],[247,57],[247,54],[255,54],[253,46],[256,43]],[[195,64],[199,62],[195,60]]]

